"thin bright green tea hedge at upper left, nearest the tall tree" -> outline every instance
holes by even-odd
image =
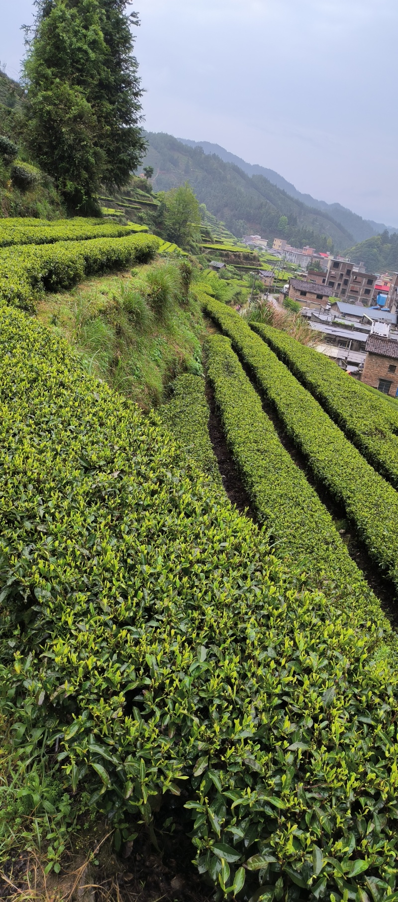
[[[55,244],[58,241],[88,241],[89,238],[122,238],[132,232],[147,232],[147,226],[117,226],[99,221],[88,223],[82,218],[63,219],[40,226],[3,226],[0,220],[0,247],[14,244]]]

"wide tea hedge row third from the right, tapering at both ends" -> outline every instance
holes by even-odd
[[[357,607],[365,622],[372,617],[390,631],[329,512],[282,447],[229,339],[208,338],[207,358],[227,444],[255,510],[276,542],[275,553],[294,561],[329,598]]]

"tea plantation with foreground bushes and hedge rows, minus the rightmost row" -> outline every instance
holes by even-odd
[[[202,377],[180,377],[162,416],[146,415],[31,315],[43,290],[160,245],[91,235],[0,250],[0,702],[14,761],[0,772],[0,851],[41,842],[60,870],[54,837],[93,813],[116,851],[137,825],[157,842],[174,796],[218,899],[396,902],[395,634],[258,386],[393,580],[396,492],[197,281],[228,336],[206,354],[259,525],[241,516]]]

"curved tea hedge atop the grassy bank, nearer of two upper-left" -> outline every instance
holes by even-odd
[[[147,262],[160,242],[154,235],[131,235],[5,248],[0,252],[0,303],[31,310],[43,288],[68,289],[84,276]]]

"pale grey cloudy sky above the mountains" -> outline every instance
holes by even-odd
[[[396,0],[136,0],[146,127],[398,226]],[[31,0],[0,0],[18,75]]]

